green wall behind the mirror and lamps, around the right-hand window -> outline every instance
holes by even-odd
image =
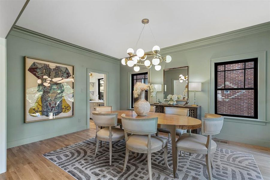
[[[269,23],[267,27],[264,28],[269,29]],[[167,51],[165,53],[166,55],[172,56],[172,61],[170,63],[163,62],[160,71],[156,71],[154,67],[152,67],[150,69],[150,83],[163,84],[164,68],[189,66],[189,82],[202,82],[202,91],[198,91],[196,97],[197,104],[202,106],[203,116],[204,113],[209,112],[210,59],[266,51],[266,120],[270,121],[270,57],[268,55],[270,51],[270,31],[252,34],[250,34],[248,28],[245,29],[245,31],[247,34],[241,36],[238,35],[242,31],[236,31],[233,34],[234,38],[226,38],[229,34],[224,34],[215,36],[214,38],[185,43],[178,47],[172,46],[163,49]],[[257,28],[256,31],[260,31],[260,27]],[[219,41],[214,41],[215,38],[218,38]],[[224,40],[220,40],[222,38],[224,38]],[[209,43],[210,41],[212,43]],[[120,110],[128,108],[129,92],[127,88],[127,74],[130,71],[133,71],[132,67],[120,64]],[[190,104],[194,102],[193,95],[194,93],[190,91]],[[163,99],[162,92],[159,92],[158,98]],[[155,101],[155,97],[151,98],[151,103]],[[270,147],[270,123],[266,123],[266,125],[255,125],[224,121],[222,131],[216,137],[234,142]]]

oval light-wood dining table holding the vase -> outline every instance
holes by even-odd
[[[172,142],[172,158],[173,158],[173,173],[174,178],[177,170],[177,151],[176,151],[176,130],[177,129],[198,129],[201,128],[202,122],[199,119],[191,118],[188,116],[178,116],[164,113],[151,113],[147,116],[138,116],[135,111],[107,111],[103,113],[118,113],[117,122],[121,124],[121,115],[126,114],[126,117],[135,119],[153,118],[158,117],[158,125],[166,128],[171,132]]]

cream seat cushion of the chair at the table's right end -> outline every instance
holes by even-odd
[[[178,148],[190,149],[194,151],[205,151],[207,154],[206,148],[207,137],[200,134],[193,133],[184,133],[176,141],[176,146]],[[211,140],[211,151],[215,151],[217,144],[215,141]]]

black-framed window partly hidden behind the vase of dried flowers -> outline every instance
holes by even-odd
[[[148,73],[137,73],[137,74],[132,74],[131,75],[131,108],[134,108],[134,103],[138,100],[137,98],[133,97],[133,90],[134,90],[134,85],[136,82],[141,82],[141,83],[148,83]],[[148,101],[148,93],[145,91],[145,100]]]

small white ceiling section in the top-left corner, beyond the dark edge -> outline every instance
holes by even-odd
[[[0,38],[6,38],[25,0],[0,0]]]

